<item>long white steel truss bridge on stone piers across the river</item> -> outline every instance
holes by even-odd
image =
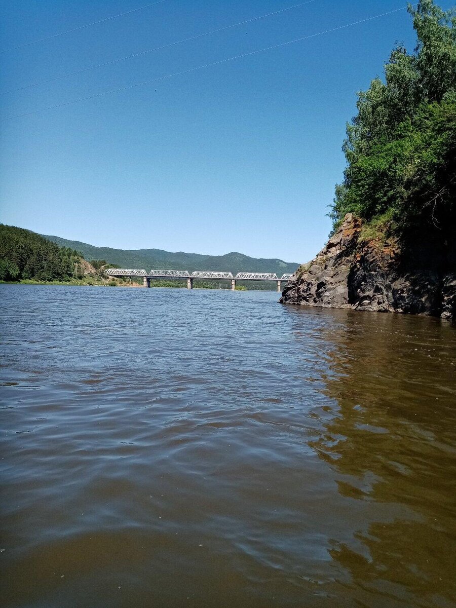
[[[275,272],[238,272],[233,275],[232,272],[216,272],[216,271],[201,271],[188,272],[187,270],[158,270],[153,269],[150,272],[145,270],[137,270],[133,268],[108,268],[105,273],[109,277],[143,277],[144,287],[150,287],[150,282],[154,278],[184,278],[187,279],[187,289],[193,289],[193,279],[206,280],[229,280],[231,281],[231,289],[236,289],[238,281],[275,281],[277,282],[277,291],[282,291],[282,281],[288,281],[291,274],[283,274],[278,277]]]

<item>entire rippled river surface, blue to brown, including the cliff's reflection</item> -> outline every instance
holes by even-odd
[[[1,603],[456,606],[456,330],[0,286]]]

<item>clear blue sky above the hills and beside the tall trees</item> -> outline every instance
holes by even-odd
[[[3,117],[150,80],[398,9],[315,0],[111,66],[11,89],[298,4],[165,0],[1,57]],[[2,0],[1,49],[147,0]],[[446,9],[452,2],[441,2]],[[330,230],[345,122],[406,12],[1,123],[0,219],[98,246],[307,261]]]

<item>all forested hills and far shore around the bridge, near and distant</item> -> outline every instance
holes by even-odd
[[[54,242],[57,241],[57,242]],[[57,244],[58,243],[58,244]],[[156,257],[153,257],[156,256]],[[92,258],[92,259],[91,259]],[[86,261],[86,260],[90,261]],[[117,262],[117,263],[116,263]],[[72,282],[88,285],[128,285],[130,279],[109,278],[105,271],[108,268],[151,268],[194,270],[243,270],[253,272],[293,272],[298,264],[289,264],[282,260],[264,260],[250,258],[243,254],[222,256],[185,254],[160,249],[142,249],[124,251],[107,247],[94,247],[80,241],[67,241],[59,237],[43,237],[31,230],[16,226],[0,224],[0,281],[32,282]],[[142,285],[142,279],[134,279]],[[154,286],[183,287],[185,281],[155,280]],[[196,281],[196,287],[206,289],[226,288],[223,281]],[[247,289],[272,289],[272,283],[256,281],[246,282]]]

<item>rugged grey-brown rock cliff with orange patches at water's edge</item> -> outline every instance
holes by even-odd
[[[456,319],[454,244],[379,246],[359,242],[361,227],[348,213],[317,257],[292,275],[280,302]]]

